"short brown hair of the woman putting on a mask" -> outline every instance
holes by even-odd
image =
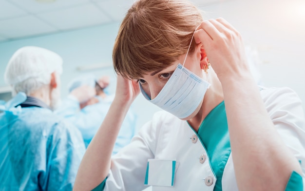
[[[167,68],[185,54],[201,11],[188,0],[138,0],[123,19],[113,50],[114,70],[136,79]],[[193,40],[190,53],[194,51]]]

